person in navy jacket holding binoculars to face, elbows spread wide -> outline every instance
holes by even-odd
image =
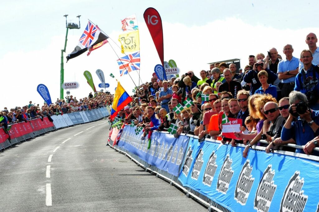
[[[250,70],[247,74],[244,75],[243,80],[246,83],[251,83],[250,85],[250,95],[253,95],[258,88],[260,88],[261,83],[258,80],[258,72],[265,70],[268,73],[267,83],[271,85],[276,85],[274,82],[278,81],[279,79],[277,74],[272,72],[271,70],[266,68],[266,64],[264,60],[258,60],[257,63],[254,64],[252,70]]]

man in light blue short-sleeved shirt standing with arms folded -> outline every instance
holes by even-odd
[[[293,57],[293,46],[286,44],[283,50],[286,59],[278,63],[278,78],[282,83],[281,96],[288,97],[295,87],[295,78],[299,71],[299,59]]]

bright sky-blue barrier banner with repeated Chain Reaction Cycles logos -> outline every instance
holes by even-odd
[[[179,180],[230,211],[318,211],[319,162],[190,139]]]

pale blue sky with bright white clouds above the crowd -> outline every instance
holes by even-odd
[[[123,57],[117,45],[121,20],[136,14],[140,35],[140,78],[150,81],[154,66],[160,64],[143,13],[148,7],[158,10],[163,23],[164,60],[175,60],[181,74],[193,70],[199,76],[208,70],[210,62],[239,58],[241,67],[248,64],[248,55],[267,54],[273,47],[284,56],[286,44],[293,45],[293,55],[307,49],[305,43],[309,32],[319,34],[319,16],[315,15],[318,1],[93,1],[93,0],[33,0],[7,1],[0,3],[0,51],[1,94],[0,110],[33,103],[43,105],[36,91],[39,84],[48,87],[52,101],[60,96],[61,49],[65,41],[65,17],[68,22],[78,23],[81,29],[68,33],[64,53],[64,82],[76,81],[79,88],[70,90],[77,99],[92,92],[83,72],[90,71],[98,90],[100,80],[97,69],[104,72],[107,89],[114,93],[117,85],[115,75],[129,94],[134,83],[128,75],[120,77],[116,60]],[[70,59],[71,53],[82,35],[88,19],[97,24],[109,36],[109,44]],[[113,51],[113,49],[115,51]],[[117,55],[116,55],[116,54]],[[138,85],[138,72],[130,72]],[[140,82],[141,83],[141,82]],[[66,96],[66,91],[64,92]]]

